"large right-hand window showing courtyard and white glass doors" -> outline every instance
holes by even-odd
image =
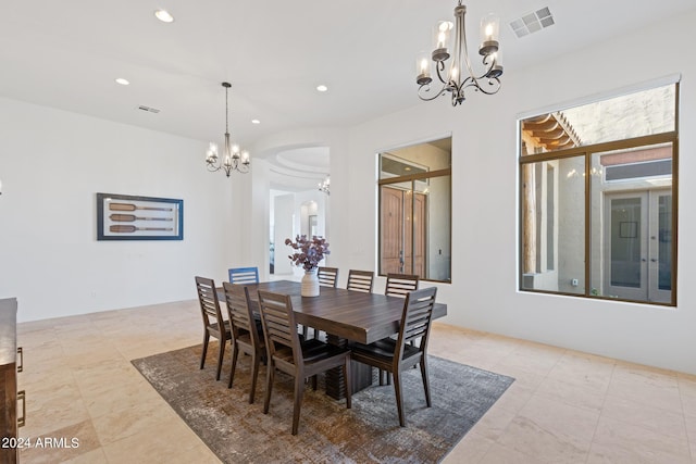
[[[676,304],[679,85],[520,122],[520,289]]]

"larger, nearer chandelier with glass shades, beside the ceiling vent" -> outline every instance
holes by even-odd
[[[415,83],[420,86],[418,89],[421,100],[431,101],[445,92],[452,93],[452,106],[461,104],[465,100],[464,89],[474,87],[486,95],[494,95],[500,90],[500,79],[502,75],[502,66],[500,65],[500,55],[498,52],[498,28],[499,21],[494,14],[488,14],[481,20],[481,46],[478,53],[483,57],[484,73],[475,76],[471,62],[469,61],[469,51],[467,50],[467,28],[464,26],[464,15],[467,7],[459,4],[455,8],[455,24],[449,21],[440,21],[434,30],[435,49],[431,53],[431,59],[435,64],[437,78],[443,84],[443,88],[437,93],[431,92],[431,66],[426,53],[419,55],[417,67],[418,77]],[[445,62],[450,58],[450,40],[455,33],[453,54],[449,67],[446,68]]]

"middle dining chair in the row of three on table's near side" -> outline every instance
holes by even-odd
[[[229,283],[222,284],[227,305],[227,316],[232,326],[232,367],[229,369],[229,383],[232,388],[235,378],[239,352],[251,356],[251,387],[249,388],[249,404],[253,403],[259,377],[259,365],[265,358],[265,343],[263,335],[259,331],[251,311],[249,288]]]

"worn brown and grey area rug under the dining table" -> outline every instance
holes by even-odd
[[[201,440],[225,463],[436,463],[461,440],[514,380],[428,356],[432,407],[426,407],[420,369],[403,374],[407,427],[399,426],[394,386],[353,394],[352,409],[308,385],[299,434],[290,435],[293,379],[275,376],[271,407],[263,414],[265,367],[256,401],[248,402],[250,358],[240,356],[227,389],[229,356],[215,381],[217,346],[206,368],[201,346],[134,360],[133,364]]]

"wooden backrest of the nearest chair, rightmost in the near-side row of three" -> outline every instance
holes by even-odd
[[[296,366],[302,363],[302,349],[289,294],[259,290],[259,311],[269,356],[285,348],[293,350]]]

